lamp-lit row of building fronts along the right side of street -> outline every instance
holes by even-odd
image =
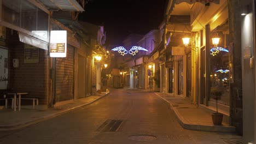
[[[222,90],[219,112],[245,143],[255,143],[254,5],[254,1],[168,1],[162,52],[169,56],[163,56],[164,63],[170,59],[173,64],[169,70],[161,68],[161,91],[214,111],[211,93]],[[189,22],[181,22],[188,16]],[[182,39],[188,37],[189,44],[184,45]],[[212,38],[220,38],[219,43]]]

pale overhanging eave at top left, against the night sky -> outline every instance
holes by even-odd
[[[84,11],[75,0],[38,0],[49,10]]]

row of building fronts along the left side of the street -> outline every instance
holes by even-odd
[[[1,4],[1,97],[7,91],[28,92],[26,97],[38,98],[39,106],[46,108],[102,89],[102,62],[95,57],[103,61],[107,57],[106,33],[103,26],[77,21],[84,4],[74,0]],[[50,31],[67,32],[66,57],[50,57]],[[29,105],[26,100],[21,103]]]

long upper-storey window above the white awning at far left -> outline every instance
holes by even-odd
[[[1,19],[48,39],[49,15],[24,0],[2,0]]]

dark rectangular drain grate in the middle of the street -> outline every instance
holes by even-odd
[[[96,131],[117,131],[122,123],[121,119],[107,119]]]

